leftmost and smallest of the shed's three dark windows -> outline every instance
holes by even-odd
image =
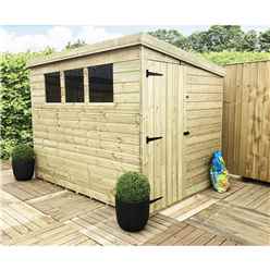
[[[45,74],[46,102],[61,102],[60,72]]]

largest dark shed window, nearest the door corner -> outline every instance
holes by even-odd
[[[112,69],[112,64],[88,68],[90,102],[113,102]]]

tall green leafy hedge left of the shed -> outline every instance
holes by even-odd
[[[29,71],[26,62],[52,50],[0,54],[1,159],[17,144],[32,144]]]

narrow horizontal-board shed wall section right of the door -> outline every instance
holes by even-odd
[[[183,196],[209,186],[212,152],[221,149],[223,77],[184,66]]]

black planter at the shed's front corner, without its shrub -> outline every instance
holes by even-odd
[[[140,202],[124,202],[115,197],[116,220],[127,232],[137,232],[145,228],[149,219],[149,200]]]

